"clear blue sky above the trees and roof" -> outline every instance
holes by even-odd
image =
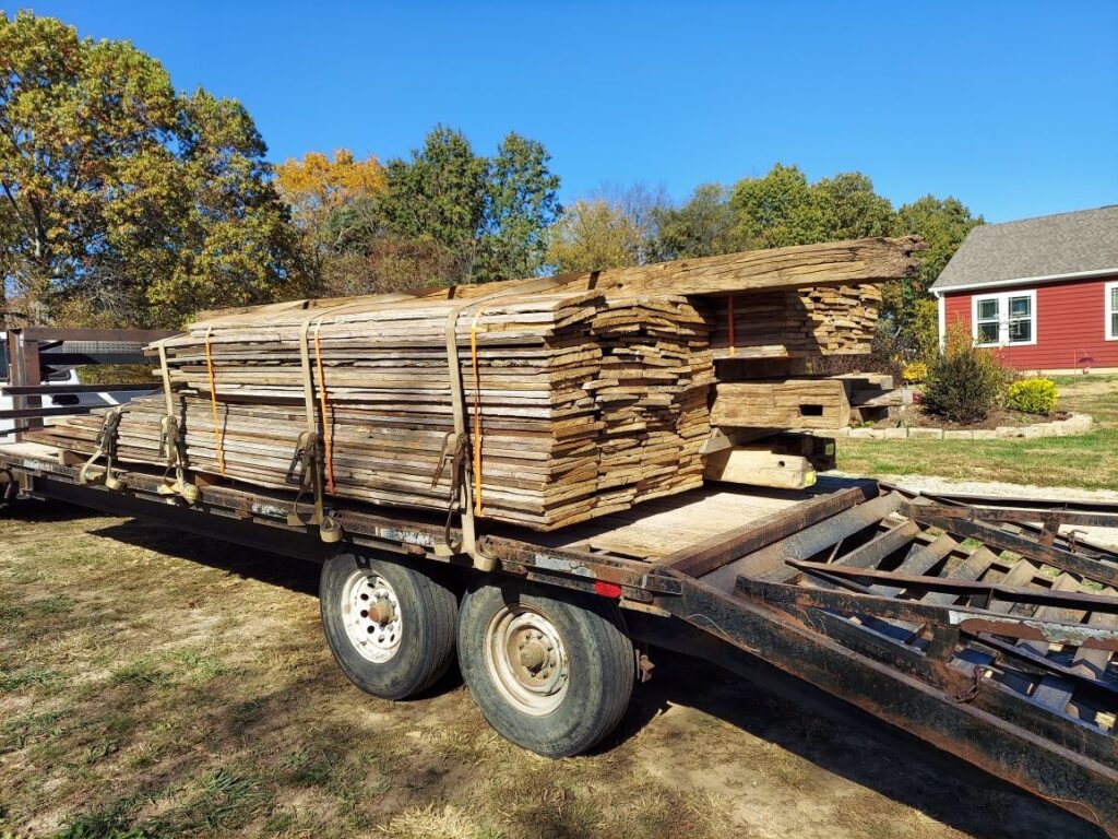
[[[276,161],[385,160],[442,122],[482,153],[542,141],[565,200],[781,161],[992,221],[1118,202],[1115,0],[29,4],[239,98]]]

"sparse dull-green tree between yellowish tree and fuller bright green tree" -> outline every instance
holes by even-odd
[[[716,256],[745,249],[729,190],[721,183],[695,188],[686,204],[656,211],[654,261]]]

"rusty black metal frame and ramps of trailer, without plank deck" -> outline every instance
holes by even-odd
[[[455,566],[481,574],[468,556],[437,550],[447,535],[445,526],[421,511],[335,499],[345,539],[340,546],[326,545],[315,528],[288,524],[292,515],[305,516],[312,506],[282,492],[200,482],[201,498],[189,507],[159,494],[157,474],[122,473],[125,491],[79,486],[73,456],[59,452],[51,459],[20,449],[0,446],[0,483],[7,483],[8,497],[53,499],[134,516],[300,559],[324,562],[339,549],[364,550],[415,567]],[[995,678],[1017,668],[1014,678],[1025,673],[1038,686],[1053,680],[1071,684],[1077,696],[1118,709],[1118,681],[1106,666],[1091,676],[1022,645],[1054,632],[1087,651],[1093,643],[1097,658],[1099,647],[1118,650],[1118,629],[1111,622],[1077,626],[1025,619],[1010,610],[994,614],[988,611],[991,597],[1012,598],[1012,586],[945,578],[937,586],[936,577],[873,567],[874,560],[880,564],[897,555],[902,544],[915,546],[910,554],[919,554],[936,548],[949,534],[974,538],[977,532],[1024,548],[1022,556],[1036,563],[1089,575],[1084,581],[1101,577],[1096,585],[1118,569],[1118,555],[1082,539],[1069,540],[1058,529],[1087,520],[1112,525],[1118,506],[1084,510],[1022,505],[1023,511],[1007,512],[1010,506],[976,498],[963,503],[861,481],[824,484],[787,511],[682,546],[657,564],[549,546],[542,535],[511,527],[492,527],[480,536],[479,546],[495,560],[492,575],[508,584],[519,579],[615,602],[629,635],[641,644],[676,649],[731,669],[742,652],[756,657],[1118,835],[1112,718],[1101,728],[1088,725]],[[1042,524],[1031,526],[1023,524],[1025,519]],[[942,535],[936,536],[937,531]],[[915,543],[913,534],[920,535]],[[821,545],[835,546],[830,569],[796,556],[797,552],[818,556]],[[770,562],[774,556],[777,560]],[[754,573],[741,573],[748,563],[754,563]],[[898,585],[912,591],[922,585],[920,591],[935,591],[942,602],[923,605],[872,590],[884,586],[888,595]],[[959,604],[960,597],[969,600]],[[1118,611],[1118,598],[1108,603],[1103,595],[1045,598],[1043,591],[1024,590],[1021,600],[1041,610],[1079,605],[1080,611],[1098,610],[1100,615]],[[922,625],[925,640],[901,642],[894,637],[898,626],[913,623]],[[967,660],[978,651],[988,660]]]

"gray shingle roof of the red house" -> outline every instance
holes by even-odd
[[[1118,205],[976,227],[931,287],[1107,268],[1118,270]]]

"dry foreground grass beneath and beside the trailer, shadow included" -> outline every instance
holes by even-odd
[[[311,564],[143,522],[0,513],[0,837],[1100,836],[655,650],[620,729],[546,761],[455,673],[408,703],[350,686],[315,584]]]

